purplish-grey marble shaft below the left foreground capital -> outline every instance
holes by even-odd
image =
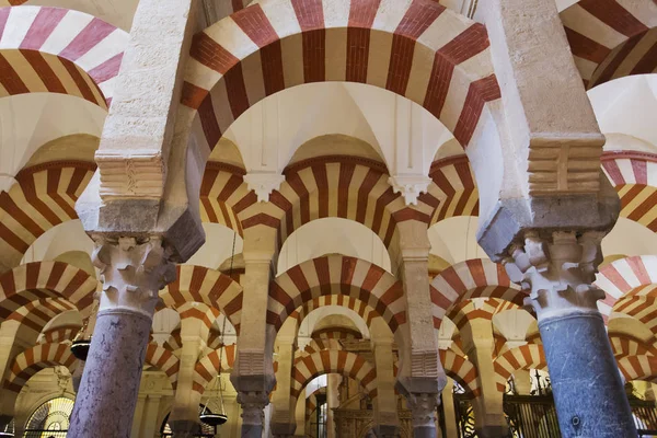
[[[151,325],[139,312],[99,313],[68,437],[130,436]]]

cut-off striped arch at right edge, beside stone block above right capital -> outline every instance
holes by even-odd
[[[657,232],[657,154],[606,152],[602,170],[621,198],[621,217]]]

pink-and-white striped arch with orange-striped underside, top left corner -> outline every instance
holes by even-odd
[[[83,12],[0,9],[0,96],[61,93],[112,102],[128,33]]]

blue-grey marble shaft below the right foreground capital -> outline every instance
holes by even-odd
[[[600,313],[539,322],[563,438],[635,438],[630,403]]]

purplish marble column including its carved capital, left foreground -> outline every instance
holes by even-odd
[[[160,238],[95,237],[103,291],[69,436],[125,438],[137,403],[158,290],[175,278]]]

